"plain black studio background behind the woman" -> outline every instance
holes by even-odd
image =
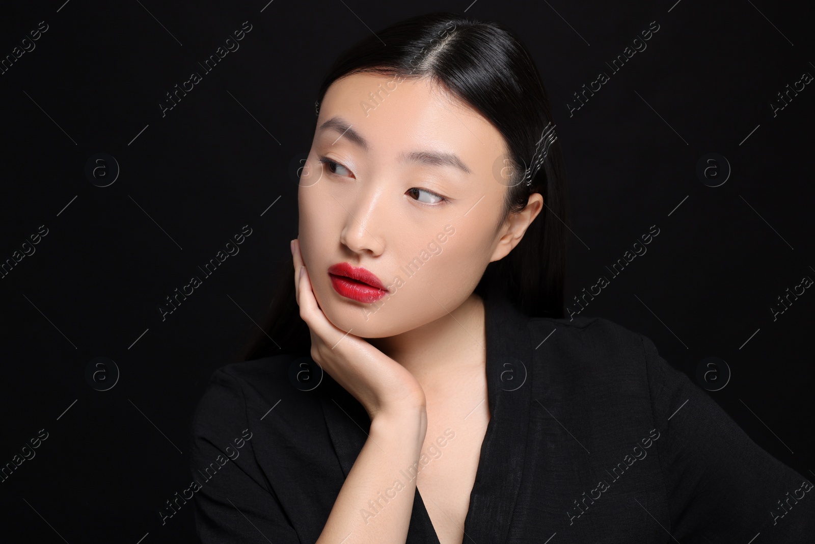
[[[341,49],[429,11],[500,20],[533,53],[570,182],[567,299],[610,278],[580,315],[645,334],[694,379],[705,357],[725,360],[732,375],[710,395],[757,444],[815,475],[815,294],[806,290],[775,321],[770,311],[787,288],[815,278],[813,83],[776,115],[770,105],[804,72],[815,74],[812,8],[766,0],[468,5],[57,0],[4,8],[2,57],[40,21],[48,29],[0,75],[0,259],[41,225],[48,234],[0,279],[0,463],[40,429],[49,436],[0,483],[0,539],[195,541],[192,502],[163,525],[157,512],[190,482],[187,431],[209,375],[253,333],[289,259],[297,236],[289,165],[311,146],[319,81]],[[244,21],[252,29],[240,48],[205,73],[198,63]],[[659,31],[645,51],[612,73],[606,62],[651,21]],[[193,71],[202,81],[162,117],[165,93]],[[610,81],[570,117],[566,103],[600,71]],[[86,177],[95,153],[121,168],[108,187]],[[729,162],[725,184],[697,176],[707,153]],[[724,164],[714,166],[725,175]],[[165,297],[244,225],[252,234],[240,253],[162,321]],[[651,225],[659,236],[647,253],[611,278],[606,266]],[[98,356],[121,373],[108,391],[86,381]]]

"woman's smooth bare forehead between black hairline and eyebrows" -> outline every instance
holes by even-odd
[[[491,163],[504,151],[495,126],[427,78],[371,73],[343,77],[328,88],[317,126],[334,116],[350,122],[370,144],[370,153],[399,153],[424,144],[421,147],[466,155],[472,162],[478,158],[480,164]]]

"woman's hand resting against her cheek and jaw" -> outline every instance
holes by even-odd
[[[371,421],[380,414],[410,414],[412,410],[421,414],[426,406],[425,391],[413,374],[364,338],[346,334],[328,321],[311,290],[296,238],[292,257],[297,305],[311,333],[311,358],[359,400]]]

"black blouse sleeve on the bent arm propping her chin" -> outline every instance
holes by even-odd
[[[251,427],[240,378],[216,370],[191,427],[190,491],[203,544],[300,542],[258,466]]]

